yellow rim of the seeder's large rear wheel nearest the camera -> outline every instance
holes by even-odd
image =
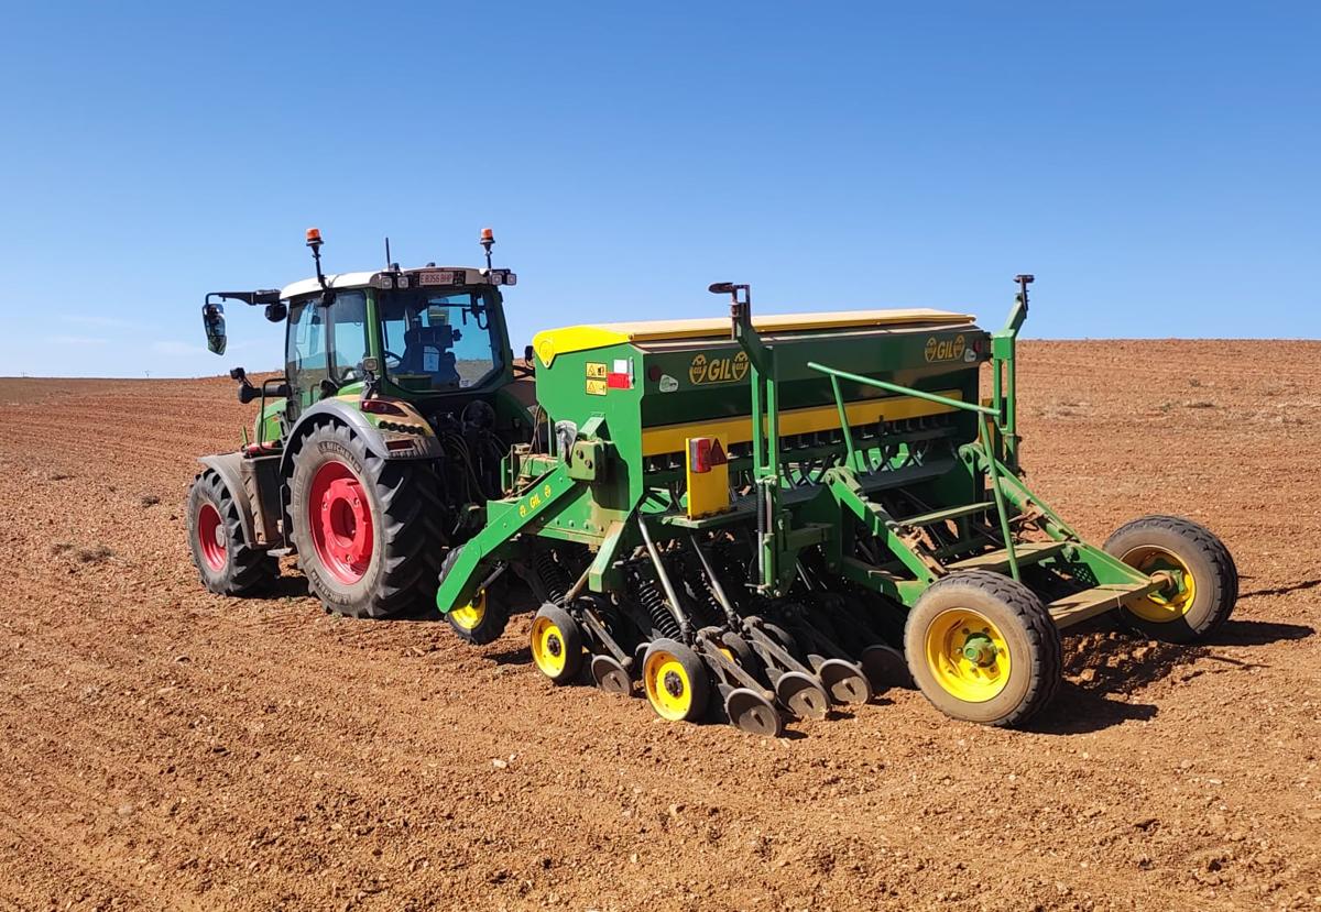
[[[985,615],[951,608],[926,628],[926,665],[948,694],[984,703],[1009,682],[1009,644]]]

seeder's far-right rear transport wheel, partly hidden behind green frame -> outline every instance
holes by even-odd
[[[1106,552],[1169,583],[1125,606],[1124,624],[1166,643],[1193,643],[1225,623],[1238,598],[1238,569],[1213,532],[1178,516],[1144,516],[1122,525]]]

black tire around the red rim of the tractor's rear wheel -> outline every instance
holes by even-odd
[[[371,546],[361,571],[329,564],[333,558],[318,552],[310,527],[313,482],[333,463],[347,469],[366,499],[362,509],[363,517],[370,516]],[[441,560],[439,515],[429,463],[383,459],[339,424],[322,424],[303,438],[289,479],[291,537],[308,587],[328,611],[390,618],[433,607]]]

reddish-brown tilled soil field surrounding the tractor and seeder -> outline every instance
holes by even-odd
[[[247,421],[232,384],[0,381],[0,905],[1318,907],[1318,366],[1025,346],[1032,483],[1096,540],[1211,525],[1234,619],[1196,648],[1067,637],[1032,731],[889,692],[778,740],[556,689],[526,615],[473,649],[329,618],[289,568],[209,595],[182,502]]]

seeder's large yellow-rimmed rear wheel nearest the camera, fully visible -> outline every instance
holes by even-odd
[[[1036,593],[999,573],[955,573],[933,583],[904,628],[909,672],[946,715],[1013,726],[1059,688],[1059,628]]]

